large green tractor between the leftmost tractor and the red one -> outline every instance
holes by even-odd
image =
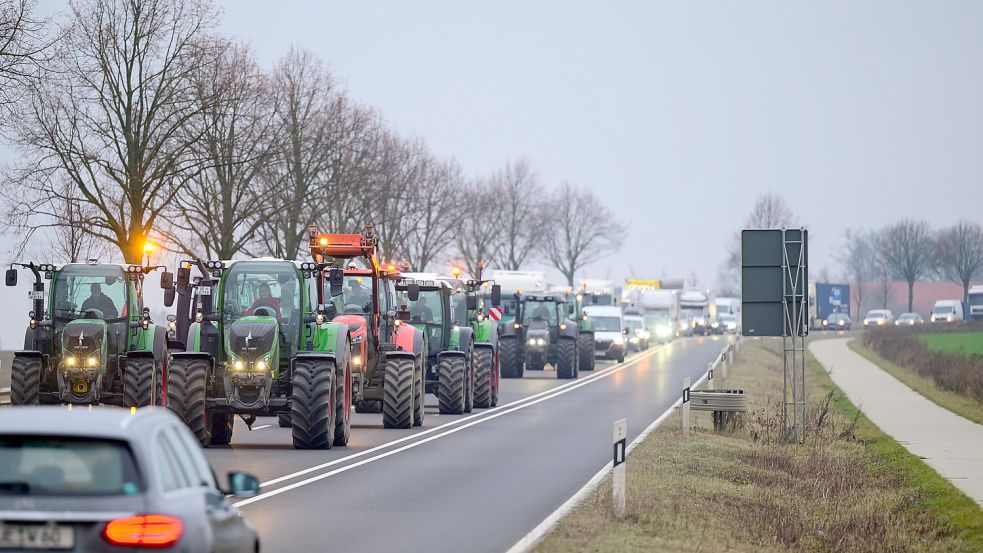
[[[185,261],[175,286],[162,280],[165,303],[179,297],[174,333],[186,337],[171,356],[167,407],[202,446],[228,445],[235,415],[250,428],[289,415],[297,449],[348,444],[351,339],[324,311],[326,272],[340,276],[314,262]]]

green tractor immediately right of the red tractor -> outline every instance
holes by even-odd
[[[470,413],[474,407],[477,349],[464,310],[455,309],[454,288],[436,274],[403,273],[396,292],[404,302],[399,319],[427,341],[425,389],[437,396],[441,414]],[[405,307],[405,309],[403,308]]]

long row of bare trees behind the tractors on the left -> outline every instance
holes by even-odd
[[[388,258],[420,270],[535,256],[573,282],[624,231],[590,192],[545,189],[525,160],[466,176],[308,51],[264,69],[216,32],[207,0],[73,0],[60,23],[34,7],[0,0],[0,129],[20,154],[2,194],[23,244],[43,234],[71,259],[109,245],[130,263],[148,240],[296,259],[310,224],[371,222]]]

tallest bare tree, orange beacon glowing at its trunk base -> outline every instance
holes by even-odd
[[[15,129],[25,162],[7,187],[21,228],[57,219],[69,198],[92,207],[85,231],[128,263],[199,162],[185,132],[199,106],[192,73],[197,41],[213,21],[197,0],[72,2],[65,40],[48,72],[19,108]]]

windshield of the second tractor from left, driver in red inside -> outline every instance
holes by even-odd
[[[222,321],[267,316],[280,321],[288,344],[298,342],[302,320],[300,277],[286,261],[239,262],[222,284]]]

